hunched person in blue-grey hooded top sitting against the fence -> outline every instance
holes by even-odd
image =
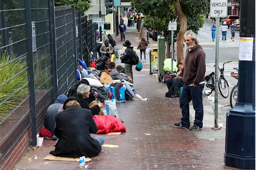
[[[54,134],[54,128],[55,128],[55,115],[58,113],[58,109],[61,105],[64,104],[64,102],[68,99],[65,95],[59,95],[57,100],[54,102],[54,104],[50,105],[46,111],[46,116],[44,120],[44,127],[48,128],[48,130]]]

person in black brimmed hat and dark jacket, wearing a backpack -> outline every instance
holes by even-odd
[[[124,47],[127,47],[123,54],[121,54],[121,63],[124,63],[124,71],[125,74],[132,77],[133,80],[133,74],[132,74],[132,63],[131,63],[131,57],[133,53],[133,47],[131,47],[130,41],[126,40],[125,43],[123,43]]]

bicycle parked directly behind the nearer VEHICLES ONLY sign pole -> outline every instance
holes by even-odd
[[[227,98],[228,97],[228,82],[226,81],[226,79],[224,78],[224,65],[226,63],[230,63],[231,61],[228,61],[228,62],[225,62],[223,63],[223,68],[220,69],[220,78],[218,79],[218,87],[219,87],[219,91],[220,91],[220,95],[222,95],[222,97],[224,98]],[[214,65],[215,67],[215,65]],[[212,94],[212,91],[214,91],[214,86],[215,86],[215,83],[214,83],[214,76],[215,76],[215,73],[212,72],[210,73],[209,75],[206,75],[205,78],[204,78],[204,81],[205,81],[205,85],[204,85],[204,94],[206,94],[207,96],[209,96],[210,94]]]

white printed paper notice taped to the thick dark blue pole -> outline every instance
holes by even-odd
[[[240,61],[252,61],[253,38],[240,37],[239,57]]]

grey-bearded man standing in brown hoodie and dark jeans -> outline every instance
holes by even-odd
[[[174,123],[178,128],[189,128],[189,103],[192,100],[195,113],[194,126],[190,130],[201,130],[203,127],[203,99],[202,91],[204,88],[205,74],[205,53],[202,46],[198,44],[196,33],[192,30],[184,34],[185,42],[188,47],[184,68],[182,68],[177,76],[183,76],[183,90],[180,96],[180,108],[182,109],[182,118],[179,123]]]

